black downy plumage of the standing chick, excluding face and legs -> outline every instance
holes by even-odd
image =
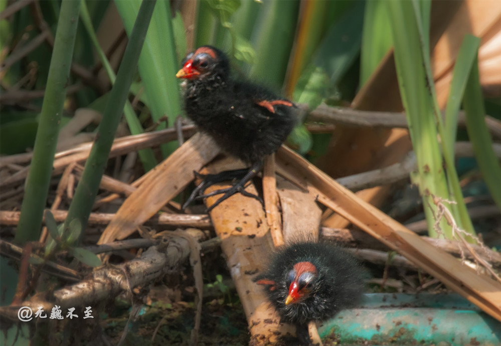
[[[285,100],[266,88],[230,76],[229,62],[220,50],[208,73],[185,82],[185,109],[198,128],[212,136],[230,155],[252,164],[275,152],[293,129],[294,107],[260,101]]]

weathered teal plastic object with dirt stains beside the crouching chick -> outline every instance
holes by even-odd
[[[366,294],[319,327],[339,344],[501,345],[501,322],[457,294]]]

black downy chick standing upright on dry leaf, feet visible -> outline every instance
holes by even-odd
[[[224,195],[207,212],[231,195],[241,194],[263,200],[244,190],[263,166],[266,155],[275,152],[295,124],[292,102],[277,97],[266,88],[230,76],[226,55],[212,46],[202,46],[188,54],[176,77],[185,79],[184,101],[188,117],[200,131],[212,136],[226,153],[250,165],[248,169],[224,171],[217,175],[199,177],[204,181],[183,205],[220,193]],[[231,188],[197,195],[212,184],[240,181]]]

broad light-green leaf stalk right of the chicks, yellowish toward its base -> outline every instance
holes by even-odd
[[[426,21],[416,17],[416,10],[411,2],[395,1],[387,2],[387,5],[391,19],[400,95],[418,162],[419,174],[416,183],[423,198],[428,232],[430,236],[437,237],[438,232],[434,227],[434,214],[437,209],[431,196],[449,200],[449,191],[437,141],[434,101],[430,88],[425,84],[427,74],[422,43],[420,44],[420,39],[423,40],[423,36],[420,35],[420,25]],[[426,38],[422,42],[427,42]],[[442,218],[438,227],[445,238],[451,238],[451,227],[446,220]]]

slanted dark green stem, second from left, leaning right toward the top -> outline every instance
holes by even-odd
[[[79,241],[82,240],[82,236],[85,233],[92,205],[94,204],[99,184],[103,177],[108,154],[122,116],[122,110],[129,95],[132,79],[136,74],[137,62],[155,4],[156,0],[143,1],[141,3],[136,23],[132,29],[122,63],[118,70],[117,79],[110,92],[103,120],[98,127],[96,141],[92,146],[89,159],[85,164],[82,179],[78,184],[75,197],[68,210],[63,232],[69,229],[71,221],[79,219],[82,224]]]

